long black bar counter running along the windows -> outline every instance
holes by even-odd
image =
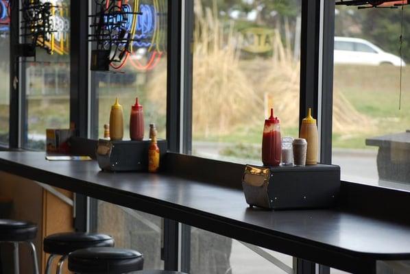
[[[377,260],[410,260],[410,224],[402,221],[342,208],[259,210],[248,207],[240,188],[170,173],[104,173],[95,161],[50,162],[44,152],[0,152],[0,166],[27,179],[352,273],[375,273]],[[241,182],[235,183],[240,187]],[[354,197],[348,199],[354,203]]]

